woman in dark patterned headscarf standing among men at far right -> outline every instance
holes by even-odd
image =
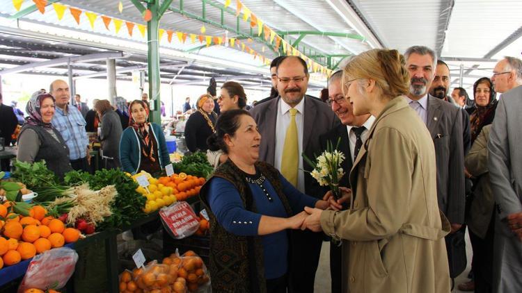
[[[493,235],[495,230],[495,201],[491,192],[488,165],[488,138],[497,107],[493,83],[487,77],[473,84],[475,106],[470,111],[471,149],[465,166],[473,180],[473,195],[468,197],[468,224],[473,249],[473,286],[475,292],[493,292]],[[468,283],[464,283],[468,287]],[[462,285],[462,284],[461,284]],[[459,285],[459,288],[461,287]]]

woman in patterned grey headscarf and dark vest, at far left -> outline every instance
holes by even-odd
[[[72,167],[69,148],[51,124],[54,97],[45,91],[35,92],[27,103],[26,112],[29,117],[18,136],[17,160],[30,163],[45,160],[47,168],[62,179]]]

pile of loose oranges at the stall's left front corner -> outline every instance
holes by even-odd
[[[33,206],[29,217],[16,215],[12,203],[0,205],[0,269],[33,258],[38,253],[77,242],[80,231],[65,228],[65,224],[54,217],[45,217],[47,210]]]

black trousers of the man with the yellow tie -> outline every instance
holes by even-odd
[[[292,230],[290,238],[292,249],[290,251],[289,292],[313,293],[323,233]]]

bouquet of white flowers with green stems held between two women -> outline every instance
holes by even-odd
[[[315,162],[310,160],[304,153],[302,155],[305,162],[314,168],[313,171],[309,172],[310,175],[317,180],[319,185],[328,185],[336,200],[341,197],[339,181],[345,175],[341,167],[342,161],[345,160],[345,154],[338,151],[340,141],[339,138],[335,149],[330,141],[326,142],[326,151],[321,156],[316,156]]]

